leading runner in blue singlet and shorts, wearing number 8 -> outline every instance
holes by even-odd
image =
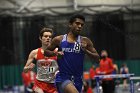
[[[84,16],[73,15],[69,20],[69,32],[55,37],[44,53],[46,56],[59,56],[59,73],[55,80],[59,93],[81,93],[85,54],[99,61],[91,40],[80,35],[84,22]],[[59,52],[52,51],[55,47],[59,47]]]

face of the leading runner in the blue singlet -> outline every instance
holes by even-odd
[[[70,29],[74,35],[79,35],[83,29],[84,21],[82,19],[76,18],[76,20],[70,24]]]

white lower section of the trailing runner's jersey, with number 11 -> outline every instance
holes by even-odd
[[[58,65],[53,59],[39,59],[37,61],[37,80],[54,83]]]

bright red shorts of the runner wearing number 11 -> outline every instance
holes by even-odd
[[[54,83],[46,83],[43,81],[35,80],[33,90],[35,90],[36,87],[41,88],[44,93],[57,93],[57,89]]]

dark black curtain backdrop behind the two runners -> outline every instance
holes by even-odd
[[[135,19],[139,13],[83,15],[86,24],[82,35],[93,41],[98,53],[106,49],[115,60],[140,59],[140,19]],[[51,24],[55,36],[67,33],[69,16],[0,16],[0,65],[25,63],[30,51],[40,47],[38,34],[41,28]]]

